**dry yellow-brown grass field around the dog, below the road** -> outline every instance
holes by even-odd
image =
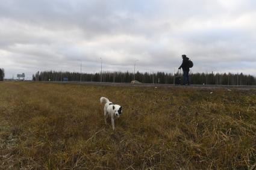
[[[0,169],[255,169],[256,90],[231,90],[1,82]]]

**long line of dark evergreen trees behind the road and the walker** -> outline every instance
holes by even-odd
[[[172,73],[140,73],[135,74],[135,80],[142,83],[165,83],[172,84],[175,77],[181,76]],[[82,82],[116,82],[128,83],[134,80],[134,73],[126,72],[104,72],[102,73],[77,73],[61,71],[42,71],[33,74],[34,81],[82,81]],[[205,85],[256,85],[256,78],[247,74],[233,73],[191,73],[192,84]]]

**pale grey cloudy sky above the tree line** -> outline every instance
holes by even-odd
[[[0,0],[0,68],[256,75],[256,1]]]

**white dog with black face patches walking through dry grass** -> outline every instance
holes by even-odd
[[[122,106],[114,105],[110,100],[105,97],[101,97],[100,99],[101,104],[105,102],[104,106],[104,117],[105,117],[105,124],[107,124],[107,117],[111,117],[111,123],[114,130],[114,120],[119,118],[122,114]]]

